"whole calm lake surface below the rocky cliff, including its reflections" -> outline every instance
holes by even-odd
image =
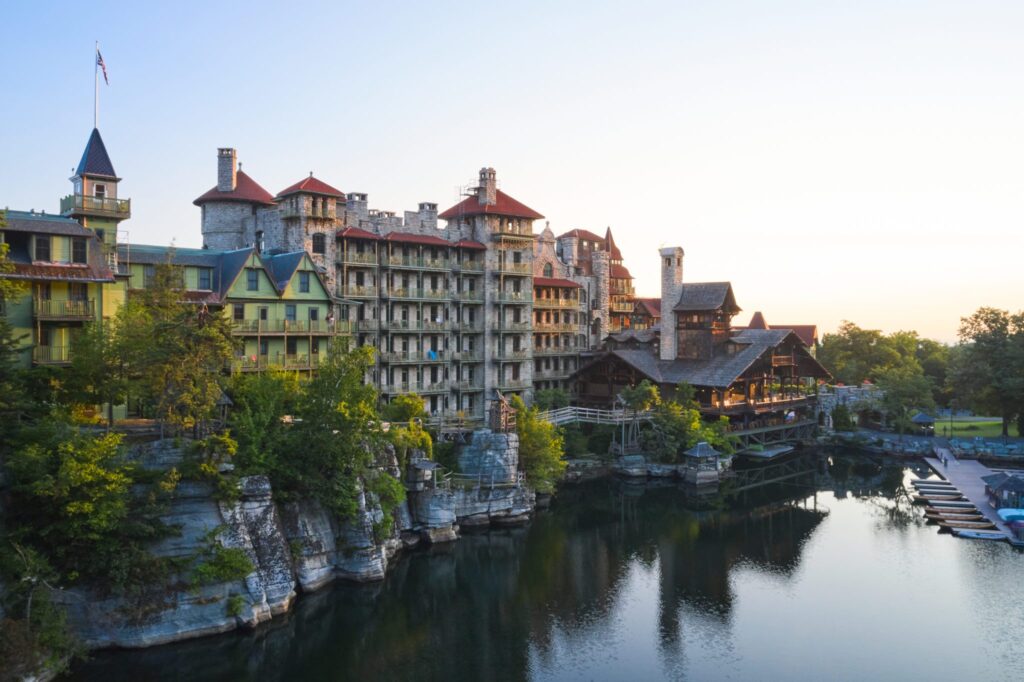
[[[926,525],[900,464],[805,458],[717,500],[599,481],[376,586],[88,680],[1024,679],[1024,554]],[[922,473],[920,471],[919,473]]]

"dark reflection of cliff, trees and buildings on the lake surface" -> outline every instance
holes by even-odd
[[[901,472],[833,458],[818,480],[892,500]],[[659,647],[681,670],[687,621],[700,636],[728,640],[730,571],[788,579],[797,569],[822,518],[813,491],[780,483],[752,491],[749,506],[694,511],[675,487],[566,487],[528,528],[415,552],[385,583],[306,595],[256,633],[103,655],[85,672],[96,680],[523,679],[531,647],[544,665],[556,639],[579,646],[608,627],[634,565],[659,570]]]

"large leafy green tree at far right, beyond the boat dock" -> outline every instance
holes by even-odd
[[[1004,436],[1015,418],[1024,426],[1024,312],[979,308],[961,319],[959,340],[949,365],[956,397],[998,415]]]

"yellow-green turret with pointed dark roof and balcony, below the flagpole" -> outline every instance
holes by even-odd
[[[108,259],[116,255],[118,225],[131,217],[131,202],[118,198],[121,178],[106,154],[99,130],[92,129],[75,174],[73,194],[60,201],[60,213],[96,232]]]

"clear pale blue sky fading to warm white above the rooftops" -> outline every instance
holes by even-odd
[[[497,169],[560,235],[732,282],[745,324],[954,341],[1024,307],[1024,3],[5,3],[0,207],[56,212],[92,128],[125,239],[200,246],[218,146],[440,209]],[[544,222],[536,224],[539,232]]]

